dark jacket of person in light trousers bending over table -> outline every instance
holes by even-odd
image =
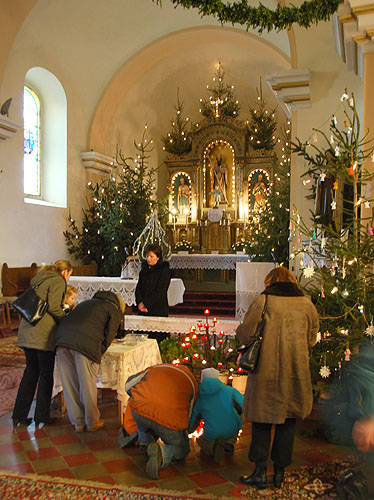
[[[114,339],[123,313],[113,292],[96,292],[92,299],[79,303],[60,323],[56,347],[80,352],[95,363]]]

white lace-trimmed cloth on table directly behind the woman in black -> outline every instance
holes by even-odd
[[[128,306],[136,304],[135,288],[137,280],[124,280],[121,278],[108,278],[106,276],[70,276],[69,285],[78,289],[77,302],[91,299],[98,290],[119,293]],[[184,283],[180,278],[172,278],[168,289],[169,306],[183,302]]]

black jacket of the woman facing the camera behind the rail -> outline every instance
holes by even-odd
[[[148,313],[146,316],[168,316],[168,288],[170,285],[169,262],[158,261],[149,266],[147,261],[142,262],[139,281],[135,289],[136,305],[143,302]]]

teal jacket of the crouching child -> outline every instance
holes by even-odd
[[[218,378],[204,378],[199,385],[199,398],[193,408],[189,432],[203,420],[204,438],[208,441],[234,438],[242,426],[239,415],[242,406],[243,395],[237,389]]]

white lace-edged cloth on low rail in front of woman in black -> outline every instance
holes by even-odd
[[[235,330],[239,325],[239,321],[234,319],[221,319],[219,317],[217,319],[218,321],[215,327],[217,333],[223,330],[226,335],[235,335]],[[135,332],[146,331],[187,334],[191,326],[196,326],[198,321],[204,322],[205,318],[202,316],[169,316],[168,318],[164,318],[159,316],[125,315],[125,330],[133,330]],[[211,323],[211,321],[209,323]],[[201,333],[203,333],[203,331]],[[213,333],[212,328],[210,328],[210,333]]]

